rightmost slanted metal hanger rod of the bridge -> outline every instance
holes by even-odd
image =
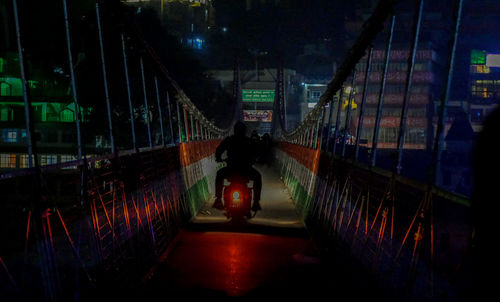
[[[431,182],[434,185],[438,185],[441,175],[441,149],[443,145],[444,136],[444,123],[447,115],[448,99],[450,97],[451,80],[453,77],[453,69],[455,62],[455,52],[457,48],[458,33],[460,29],[461,17],[462,17],[463,0],[458,0],[457,10],[456,10],[456,20],[455,20],[455,32],[453,33],[452,40],[450,41],[451,49],[449,60],[447,62],[448,76],[446,78],[446,85],[443,89],[441,96],[441,114],[439,115],[439,121],[437,125],[436,138],[434,140],[434,173],[432,175]]]

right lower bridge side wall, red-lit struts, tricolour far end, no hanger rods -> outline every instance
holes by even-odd
[[[338,156],[282,142],[281,176],[311,233],[350,251],[397,299],[460,299],[469,200]]]

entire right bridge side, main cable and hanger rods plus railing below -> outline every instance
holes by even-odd
[[[401,175],[424,0],[415,1],[411,45],[406,51],[404,95],[398,100],[401,113],[392,166],[387,170],[378,168],[376,160],[377,151],[380,151],[377,150],[378,131],[386,110],[386,78],[398,21],[393,12],[398,1],[379,2],[327,90],[305,120],[293,130],[276,127],[275,134],[281,138],[277,160],[282,178],[312,233],[350,250],[376,274],[389,295],[397,299],[438,301],[445,297],[454,301],[460,297],[460,282],[464,282],[467,274],[457,268],[470,252],[470,202],[464,196],[436,186],[440,178],[444,121],[462,2],[454,1],[454,26],[439,104],[442,110],[438,111],[427,180],[416,181]],[[369,136],[371,144],[361,143],[373,43],[384,24],[387,37],[374,133]],[[356,68],[358,63],[364,67]],[[355,83],[362,84],[356,119],[352,115]],[[275,116],[281,118],[281,104],[275,104],[274,108],[278,112]]]

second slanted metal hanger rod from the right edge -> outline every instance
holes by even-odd
[[[401,122],[399,125],[399,137],[398,137],[398,145],[397,145],[397,162],[396,162],[396,172],[398,174],[401,173],[401,160],[403,158],[403,145],[404,145],[404,136],[406,130],[406,116],[408,114],[408,103],[410,102],[411,96],[411,86],[413,79],[413,70],[415,65],[415,57],[418,49],[418,38],[420,36],[420,25],[422,23],[422,14],[424,10],[424,0],[419,0],[418,10],[416,17],[416,23],[413,32],[413,41],[412,41],[412,49],[411,55],[408,58],[408,73],[406,77],[406,89],[405,89],[405,97],[403,99],[403,108],[401,111]]]

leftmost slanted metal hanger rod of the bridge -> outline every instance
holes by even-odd
[[[31,111],[31,99],[29,97],[28,81],[26,79],[26,69],[24,66],[24,48],[21,42],[21,27],[19,25],[19,14],[17,11],[17,1],[12,1],[14,7],[14,21],[16,24],[17,51],[19,55],[19,68],[21,71],[21,81],[23,85],[24,115],[26,117],[26,140],[28,145],[28,167],[38,167],[38,154],[36,152],[36,141],[33,137],[34,126]]]

